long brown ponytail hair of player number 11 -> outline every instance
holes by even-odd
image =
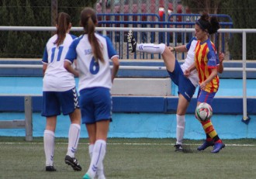
[[[57,24],[57,40],[54,42],[54,44],[57,44],[57,46],[60,46],[61,43],[63,43],[67,29],[69,28],[69,24],[71,23],[71,16],[68,15],[65,12],[60,12],[57,15],[56,24]]]

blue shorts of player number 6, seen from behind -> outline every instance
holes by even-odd
[[[79,93],[83,124],[92,124],[101,120],[112,121],[112,98],[109,88],[85,88]]]

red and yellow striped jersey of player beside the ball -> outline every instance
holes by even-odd
[[[198,40],[195,46],[195,67],[199,73],[199,84],[206,81],[206,78],[212,72],[213,68],[217,67],[216,48],[214,44],[208,39],[201,43]],[[207,92],[216,92],[219,88],[220,79],[218,75],[213,78],[209,84],[206,85]]]

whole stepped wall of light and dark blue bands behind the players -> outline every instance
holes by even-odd
[[[5,63],[10,63],[6,60]],[[20,61],[16,62],[20,64]],[[25,64],[40,64],[40,61],[25,61]],[[121,61],[121,65],[164,66],[158,62]],[[241,67],[240,63],[225,63],[225,67]],[[248,63],[247,67],[254,67]],[[227,74],[225,74],[227,73]],[[40,115],[42,105],[42,74],[40,69],[2,69],[0,71],[0,120],[24,119],[24,95],[33,96],[33,136],[43,136],[45,118]],[[19,77],[20,75],[24,77]],[[251,117],[248,124],[243,118],[241,72],[224,72],[220,79],[220,90],[213,101],[213,125],[222,139],[256,138],[256,91],[254,73],[247,79],[247,112]],[[248,73],[249,74],[249,73]],[[1,77],[2,76],[2,77]],[[119,71],[119,77],[168,77],[166,71]],[[229,79],[236,77],[238,79]],[[78,81],[78,79],[76,79]],[[177,87],[172,85],[175,96],[113,96],[113,122],[109,137],[175,137],[175,111],[178,103]],[[229,96],[229,97],[227,97]],[[196,99],[186,115],[185,138],[204,139],[205,134],[194,117]],[[67,137],[69,119],[58,117],[56,136]],[[1,136],[25,136],[25,129],[0,129]],[[81,137],[88,137],[82,126]]]

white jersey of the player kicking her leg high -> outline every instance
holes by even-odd
[[[192,64],[195,63],[195,46],[196,46],[197,40],[195,37],[193,37],[189,43],[186,45],[186,48],[188,51],[187,57],[185,58],[185,62],[181,65],[182,71],[184,72],[187,70]],[[199,84],[199,74],[197,73],[196,69],[194,71],[191,71],[189,74],[189,80],[194,84],[195,88]]]

